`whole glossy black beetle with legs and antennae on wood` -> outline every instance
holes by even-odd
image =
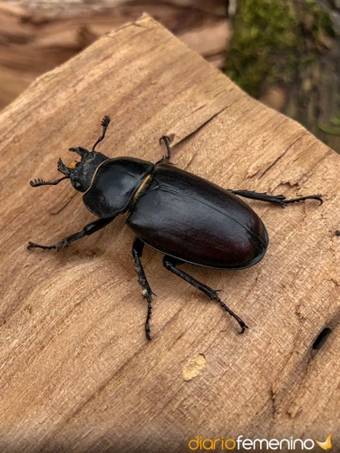
[[[144,245],[158,250],[166,269],[192,284],[219,304],[238,322],[241,332],[247,324],[219,298],[219,291],[179,268],[183,263],[214,269],[245,269],[256,265],[268,246],[266,226],[248,204],[238,197],[251,198],[286,207],[288,204],[316,199],[321,195],[287,199],[283,195],[268,195],[249,190],[220,188],[206,179],[170,164],[170,139],[163,136],[167,155],[155,164],[137,158],[108,158],[95,150],[104,137],[110,118],[102,120],[102,135],[92,151],[70,148],[81,161],[66,167],[58,160],[63,178],[53,182],[43,179],[30,181],[32,187],[57,185],[70,179],[73,188],[83,192],[85,207],[96,217],[83,230],[67,236],[53,246],[29,242],[28,248],[61,250],[109,225],[122,214],[134,232],[132,257],[142,296],[146,299],[145,335],[151,340],[150,320],[152,296],[150,284],[141,265]]]

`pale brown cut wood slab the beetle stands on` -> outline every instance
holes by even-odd
[[[98,150],[110,157],[157,161],[168,135],[176,166],[221,187],[324,195],[323,206],[285,210],[249,201],[270,237],[258,265],[183,266],[223,290],[247,333],[147,249],[142,262],[158,295],[147,342],[123,218],[59,253],[26,249],[92,221],[68,183],[31,188],[29,180],[56,178],[57,159],[92,146],[103,115],[112,123]],[[2,451],[172,452],[198,436],[324,440],[339,429],[340,157],[332,149],[146,15],[40,77],[2,112],[0,130]]]

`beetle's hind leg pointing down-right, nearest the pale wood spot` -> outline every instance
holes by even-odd
[[[246,325],[246,323],[241,318],[239,318],[237,314],[232,312],[228,308],[228,306],[219,299],[218,291],[215,291],[212,288],[209,288],[209,286],[207,286],[206,284],[201,284],[198,280],[196,280],[196,278],[192,277],[191,275],[187,274],[184,271],[181,271],[180,269],[178,269],[176,267],[177,265],[182,265],[182,264],[183,264],[183,261],[181,261],[180,259],[177,259],[177,258],[173,258],[172,256],[165,255],[163,258],[163,265],[166,269],[168,269],[168,271],[172,272],[175,275],[179,275],[180,278],[182,278],[189,284],[192,284],[192,286],[195,286],[195,288],[199,289],[199,291],[201,291],[202,293],[208,295],[208,297],[211,300],[218,301],[219,304],[221,304],[221,306],[226,310],[226,312],[228,312],[230,314],[230,316],[232,316],[233,318],[235,318],[237,320],[239,326],[241,327],[240,333],[244,333],[245,330],[248,329],[248,325]]]

